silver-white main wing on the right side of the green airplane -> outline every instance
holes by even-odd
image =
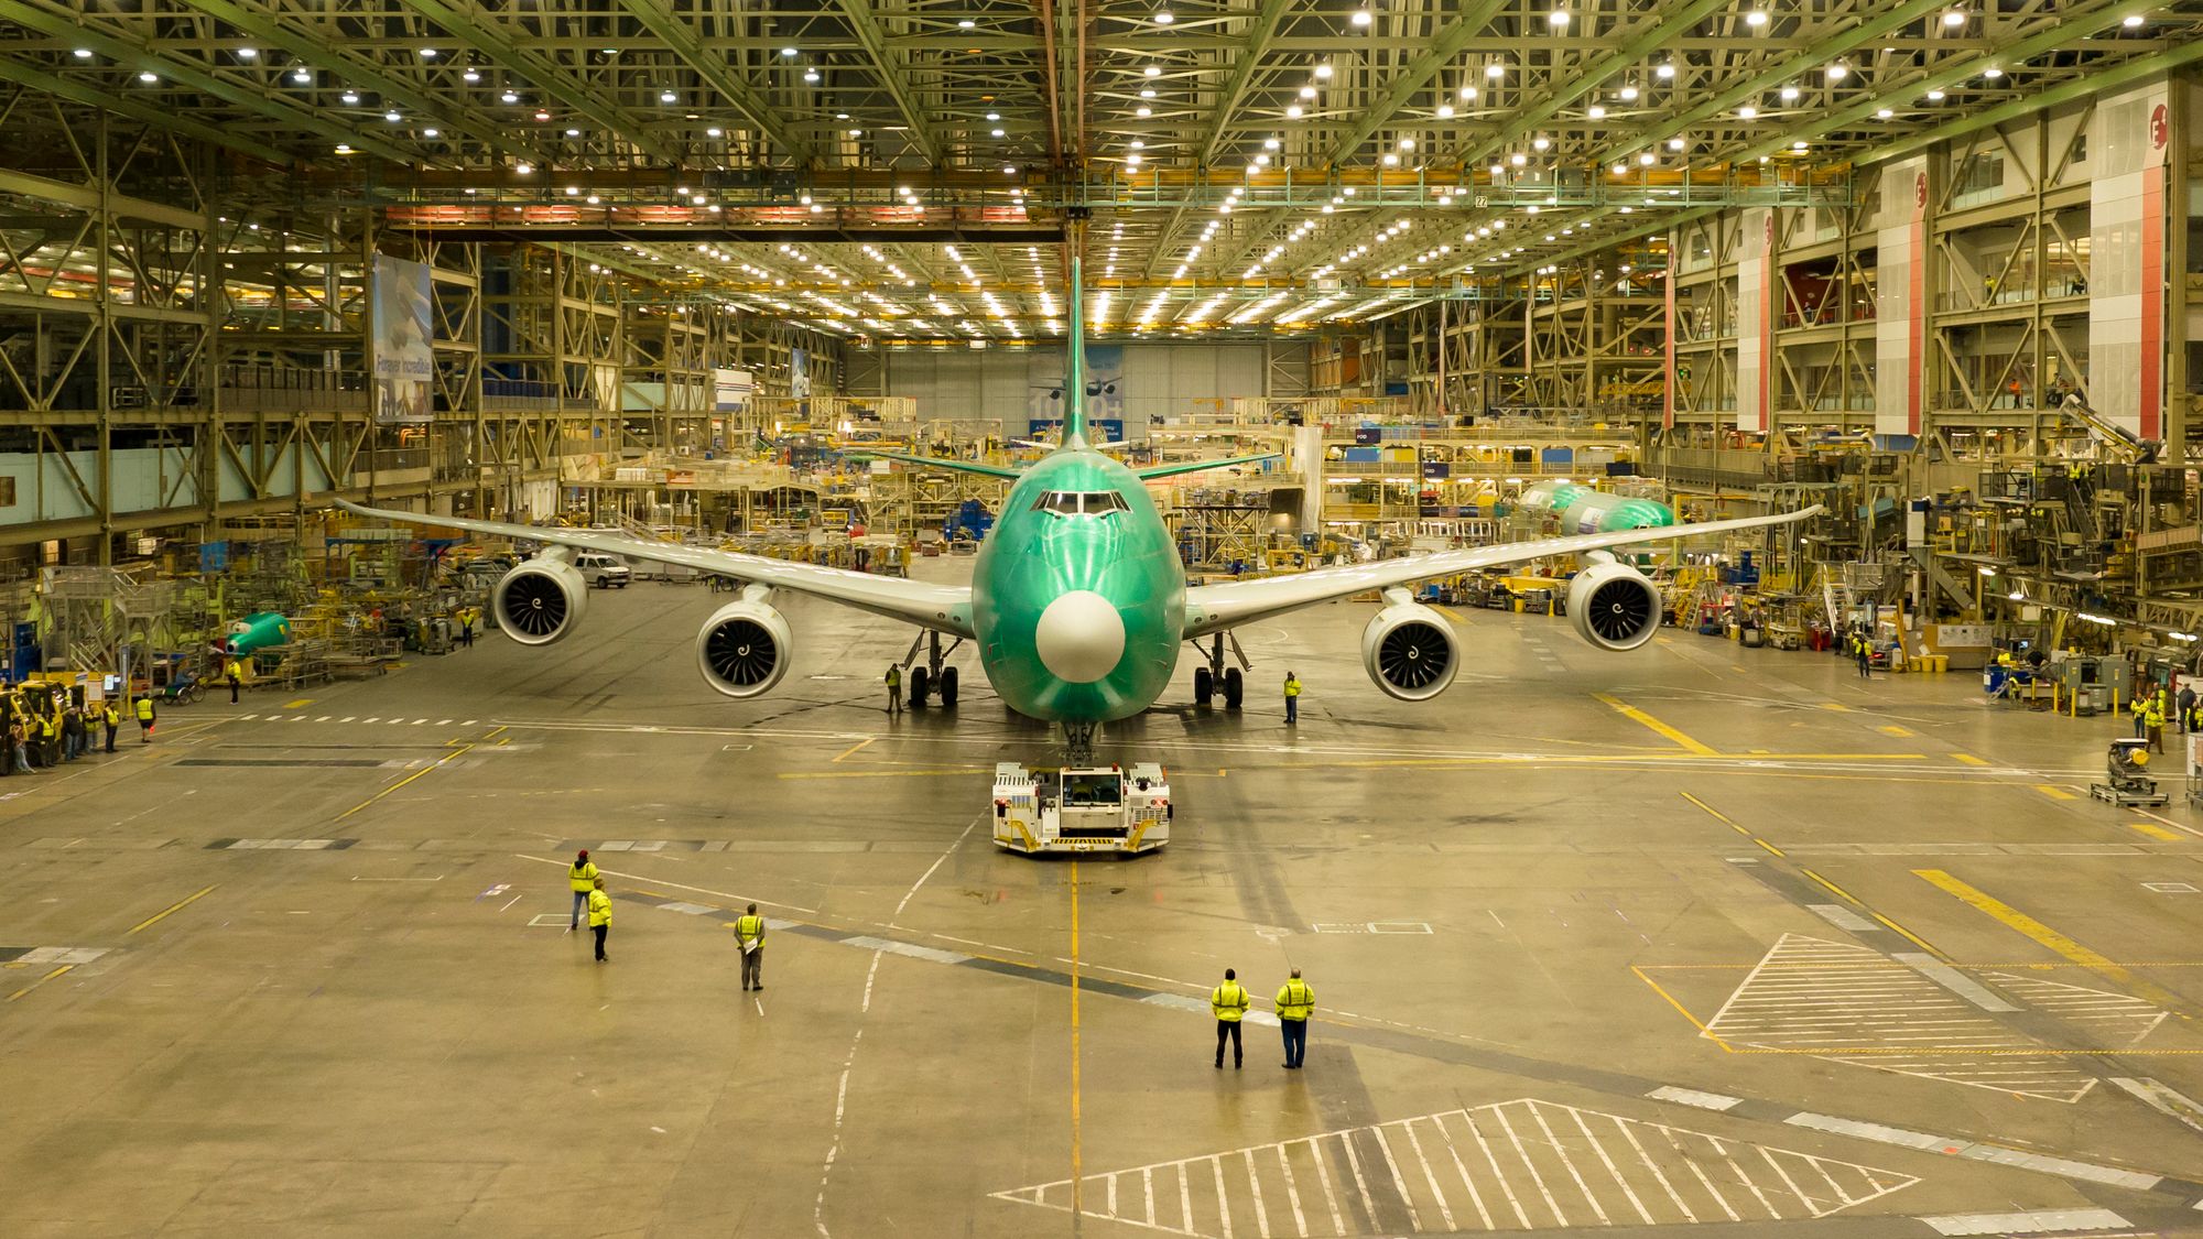
[[[1615,534],[1575,534],[1569,538],[1544,538],[1538,542],[1505,542],[1500,547],[1472,547],[1463,551],[1436,551],[1430,556],[1406,556],[1372,564],[1346,564],[1337,569],[1315,569],[1295,575],[1262,580],[1234,580],[1220,584],[1196,584],[1185,591],[1185,635],[1205,637],[1287,611],[1300,611],[1333,597],[1386,589],[1439,575],[1454,575],[1498,564],[1520,564],[1551,556],[1573,556],[1582,551],[1604,551],[1608,547],[1630,547],[1637,542],[1672,542],[1676,538],[1699,538],[1705,534],[1734,534],[1738,529],[1762,529],[1767,525],[1789,525],[1817,516],[1820,505],[1804,511],[1778,516],[1740,516],[1736,520],[1703,520],[1699,525],[1668,525],[1659,529],[1621,529]]]

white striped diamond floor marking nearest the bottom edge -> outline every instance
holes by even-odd
[[[1509,1140],[1487,1142],[1483,1124],[1505,1129]],[[1456,1138],[1456,1127],[1469,1135]],[[1516,1138],[1518,1127],[1522,1133],[1544,1129],[1553,1138],[1524,1142]],[[1458,1151],[1467,1149],[1469,1138],[1483,1153],[1463,1157]],[[1370,1193],[1368,1171],[1381,1175],[1383,1168],[1361,1160],[1359,1140],[1375,1140],[1388,1157],[1386,1164],[1394,1168],[1397,1206],[1379,1204]],[[1441,1144],[1445,1155],[1439,1153]],[[1513,1157],[1500,1153],[1509,1144],[1516,1149]],[[1571,1153],[1599,1157],[1606,1173],[1586,1175],[1573,1188],[1551,1186],[1566,1179],[1547,1179],[1538,1162],[1569,1162]],[[1417,1166],[1403,1168],[1410,1155]],[[1710,1168],[1721,1184],[1707,1175]],[[1478,1177],[1485,1175],[1498,1190],[1487,1193],[1478,1186]],[[1196,1177],[1198,1193],[1192,1190]],[[1461,1199],[1474,1204],[1476,1226],[1483,1230],[1566,1228],[1573,1226],[1571,1215],[1613,1217],[1613,1224],[1621,1226],[1765,1224],[1828,1217],[1914,1182],[1919,1179],[1912,1175],[1855,1162],[1740,1144],[1524,1098],[1086,1175],[1082,1197],[1088,1217],[1196,1239],[1229,1235],[1269,1239],[1271,1235],[1458,1232],[1472,1226],[1469,1215],[1454,1208]],[[1547,1193],[1544,1215],[1531,1217],[1522,1208],[1516,1184],[1524,1188],[1535,1184]],[[1646,1190],[1637,1190],[1639,1186]],[[1322,1206],[1315,1204],[1317,1190]],[[994,1195],[1057,1213],[1071,1210],[1071,1179]],[[1344,1208],[1342,1195],[1359,1199],[1359,1208]],[[1505,1213],[1494,1217],[1487,1208],[1485,1202],[1496,1202],[1500,1195],[1507,1197],[1513,1217]],[[1732,1195],[1758,1204],[1745,1204],[1740,1210],[1732,1204]],[[1284,1224],[1287,1217],[1293,1219],[1291,1228]],[[1328,1230],[1324,1221],[1331,1224]]]

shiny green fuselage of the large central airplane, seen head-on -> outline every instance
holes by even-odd
[[[1102,492],[1121,496],[1124,507],[1077,516],[1046,509],[1053,494]],[[1073,593],[1099,595],[1124,626],[1121,655],[1097,679],[1068,681],[1040,650],[1042,615]],[[1099,606],[1093,597],[1079,602]],[[1049,723],[1110,723],[1152,705],[1179,664],[1185,569],[1163,514],[1132,470],[1084,443],[1060,448],[1027,470],[980,542],[972,569],[972,626],[987,681],[1020,714]],[[1082,648],[1113,646],[1097,637]]]

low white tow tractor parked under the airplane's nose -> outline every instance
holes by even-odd
[[[1170,842],[1170,780],[1143,761],[1027,769],[994,767],[994,842],[1011,851],[1154,851]]]

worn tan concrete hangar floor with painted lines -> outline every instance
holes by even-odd
[[[1403,705],[1335,604],[1106,739],[1163,853],[1027,860],[985,772],[1046,734],[974,668],[888,723],[908,631],[795,602],[731,703],[712,602],[0,783],[0,1232],[2203,1230],[2203,818],[2086,796],[2115,721],[1487,611]],[[1225,966],[1306,970],[1306,1071],[1209,1065]]]

